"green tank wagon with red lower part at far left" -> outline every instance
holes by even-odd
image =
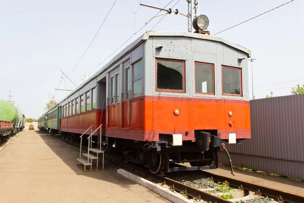
[[[25,117],[6,100],[0,100],[0,141],[24,128]]]

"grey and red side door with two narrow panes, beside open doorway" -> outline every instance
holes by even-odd
[[[120,77],[119,69],[110,74],[110,97],[108,106],[108,127],[120,127]]]

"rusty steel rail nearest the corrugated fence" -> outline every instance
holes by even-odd
[[[212,177],[213,180],[215,180],[215,181],[219,181],[219,182],[228,181],[230,186],[234,186],[234,187],[238,188],[239,186],[242,185],[244,190],[248,190],[248,191],[258,191],[259,190],[262,195],[269,196],[269,197],[272,197],[275,199],[277,199],[279,196],[281,196],[284,199],[284,202],[290,202],[290,203],[304,202],[304,196],[295,194],[292,192],[287,192],[284,190],[279,190],[279,189],[275,189],[275,188],[271,188],[271,187],[267,187],[267,186],[263,186],[263,185],[249,183],[249,182],[241,181],[241,180],[234,179],[234,178],[228,178],[225,176],[215,175],[215,174],[211,174],[211,173],[205,172],[205,171],[203,172],[203,174],[206,174],[207,176]]]

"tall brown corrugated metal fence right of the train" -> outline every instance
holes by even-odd
[[[304,94],[250,100],[250,114],[251,139],[226,144],[233,164],[304,179]]]

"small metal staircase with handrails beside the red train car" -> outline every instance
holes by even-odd
[[[84,165],[84,171],[85,172],[91,172],[91,171],[100,171],[100,169],[98,168],[98,158],[99,158],[99,154],[102,154],[102,170],[103,170],[103,163],[104,163],[104,151],[101,150],[101,125],[99,125],[99,127],[92,132],[92,127],[93,125],[91,125],[81,136],[81,140],[80,140],[80,154],[79,154],[79,158],[77,159],[77,163],[80,162],[81,164]],[[88,152],[87,153],[82,153],[81,148],[82,148],[82,137],[83,135],[91,128],[91,135],[87,138],[88,139]],[[99,149],[96,148],[92,148],[92,143],[93,143],[93,139],[92,139],[92,135],[100,128],[100,138],[99,138]],[[91,153],[90,153],[91,152]],[[95,155],[96,154],[96,155]],[[86,157],[85,159],[82,157]],[[93,165],[93,159],[96,160],[96,170],[92,170],[92,165]],[[91,166],[90,170],[86,170],[86,166]]]

